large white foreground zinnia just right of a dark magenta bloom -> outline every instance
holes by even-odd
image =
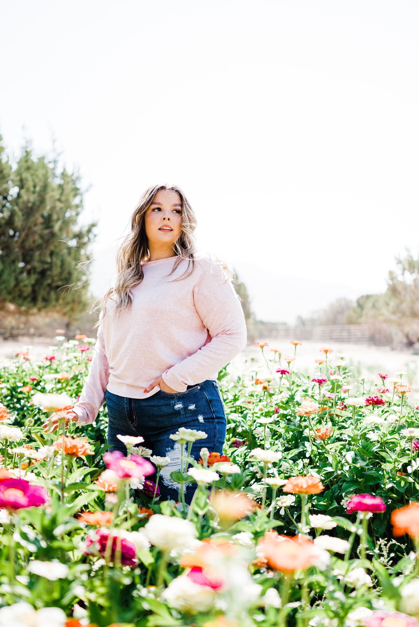
[[[143,533],[151,544],[165,552],[193,548],[197,544],[195,525],[176,516],[151,516],[143,527]]]

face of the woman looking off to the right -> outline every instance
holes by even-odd
[[[144,216],[146,235],[150,246],[170,248],[180,236],[182,199],[177,192],[159,189]]]

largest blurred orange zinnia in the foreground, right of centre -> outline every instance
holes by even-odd
[[[315,544],[306,535],[286,536],[267,532],[258,540],[258,556],[281,572],[305,570],[318,558]]]

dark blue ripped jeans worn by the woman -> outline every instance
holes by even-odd
[[[207,379],[185,392],[170,394],[159,390],[148,398],[126,398],[106,391],[109,424],[107,441],[111,451],[126,455],[126,446],[116,437],[119,435],[142,436],[138,446],[150,448],[153,455],[169,457],[170,463],[161,469],[159,478],[160,500],[180,500],[179,484],[173,482],[170,473],[180,470],[180,445],[170,439],[179,427],[204,431],[207,438],[192,445],[191,456],[199,460],[205,446],[210,452],[222,453],[226,438],[226,411],[217,381]],[[187,445],[184,446],[186,456]],[[155,480],[155,475],[148,477]],[[185,483],[185,500],[190,503],[196,483]]]

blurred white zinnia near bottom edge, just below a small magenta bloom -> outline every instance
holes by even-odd
[[[161,598],[165,599],[172,608],[187,614],[207,612],[214,607],[215,603],[214,590],[209,586],[195,584],[185,573],[170,582],[161,593]]]

